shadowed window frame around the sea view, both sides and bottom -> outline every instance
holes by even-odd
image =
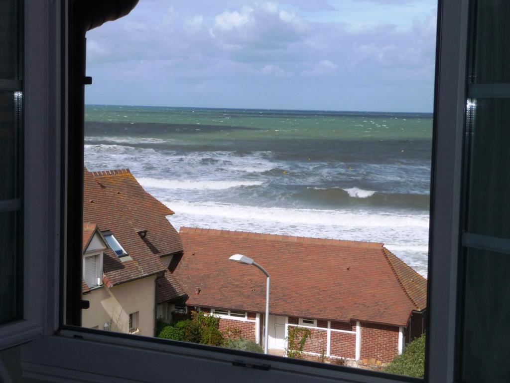
[[[0,326],[2,347],[25,343],[18,355],[22,373],[41,380],[107,381],[112,376],[130,381],[175,379],[200,381],[211,376],[295,383],[352,381],[390,383],[415,379],[366,371],[316,367],[299,361],[228,353],[200,345],[136,338],[84,328],[60,328],[59,271],[62,247],[61,212],[61,42],[66,0],[25,2],[25,195],[24,195],[24,313],[23,321]],[[455,381],[456,275],[459,246],[461,169],[465,110],[465,68],[468,2],[442,0],[438,48],[438,88],[434,141],[435,167],[431,204],[427,371],[429,382]],[[71,207],[69,207],[71,208]],[[65,281],[64,281],[65,282]],[[64,289],[65,291],[65,289]],[[65,312],[65,310],[64,310]],[[31,341],[32,340],[32,341]],[[28,343],[27,343],[28,342]],[[11,349],[12,350],[12,349]],[[49,351],[49,352],[48,352]],[[65,357],[62,357],[65,355]],[[94,355],[83,358],[83,355]],[[136,360],[120,363],[119,355]],[[261,369],[240,367],[239,361]],[[101,363],[97,363],[100,361]],[[237,365],[233,366],[233,363]],[[270,369],[262,368],[269,365]],[[162,368],[164,366],[164,368]]]

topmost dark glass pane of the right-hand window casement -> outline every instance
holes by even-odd
[[[510,3],[477,1],[474,82],[510,82]]]

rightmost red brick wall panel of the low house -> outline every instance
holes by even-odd
[[[361,358],[391,362],[398,353],[398,327],[369,323],[361,327]]]

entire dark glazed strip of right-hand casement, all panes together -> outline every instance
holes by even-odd
[[[462,381],[506,382],[510,350],[510,3],[471,3]],[[480,89],[482,91],[480,91]]]

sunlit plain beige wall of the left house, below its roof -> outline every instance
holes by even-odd
[[[139,312],[138,329],[146,337],[154,336],[156,276],[122,283],[108,289],[103,286],[83,296],[90,307],[82,310],[82,326],[98,326],[105,323],[112,331],[129,332],[129,314]]]

